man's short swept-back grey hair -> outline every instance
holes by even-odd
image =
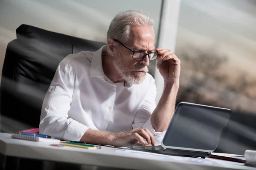
[[[121,12],[111,21],[108,28],[107,40],[112,38],[125,42],[131,38],[130,30],[132,26],[151,26],[153,29],[153,24],[154,20],[142,12]]]

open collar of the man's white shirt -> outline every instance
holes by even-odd
[[[102,48],[99,48],[99,50],[93,54],[92,63],[90,66],[90,77],[103,77],[104,81],[107,82],[108,77],[105,76],[103,67],[102,67],[102,53],[106,53],[106,52],[107,52],[107,45],[103,45]],[[111,82],[110,79],[108,80]],[[122,82],[119,82],[116,84],[125,86],[127,88],[132,86],[130,83],[128,83],[125,80],[122,80]]]

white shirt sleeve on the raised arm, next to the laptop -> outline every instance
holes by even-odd
[[[151,131],[151,133],[155,137],[155,142],[157,145],[161,145],[163,140],[163,136],[166,133],[166,130],[163,132],[156,132],[154,127],[151,124],[151,114],[153,113],[154,109],[156,108],[156,94],[157,88],[154,82],[151,85],[151,88],[148,91],[148,94],[145,96],[144,101],[140,105],[136,116],[134,118],[134,122],[132,124],[132,128],[145,128]]]

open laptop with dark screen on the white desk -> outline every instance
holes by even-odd
[[[218,146],[232,111],[180,102],[159,146],[127,146],[132,150],[205,158]]]

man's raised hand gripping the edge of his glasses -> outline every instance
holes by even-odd
[[[180,59],[171,51],[157,48],[157,68],[164,82],[178,82],[180,78]]]

